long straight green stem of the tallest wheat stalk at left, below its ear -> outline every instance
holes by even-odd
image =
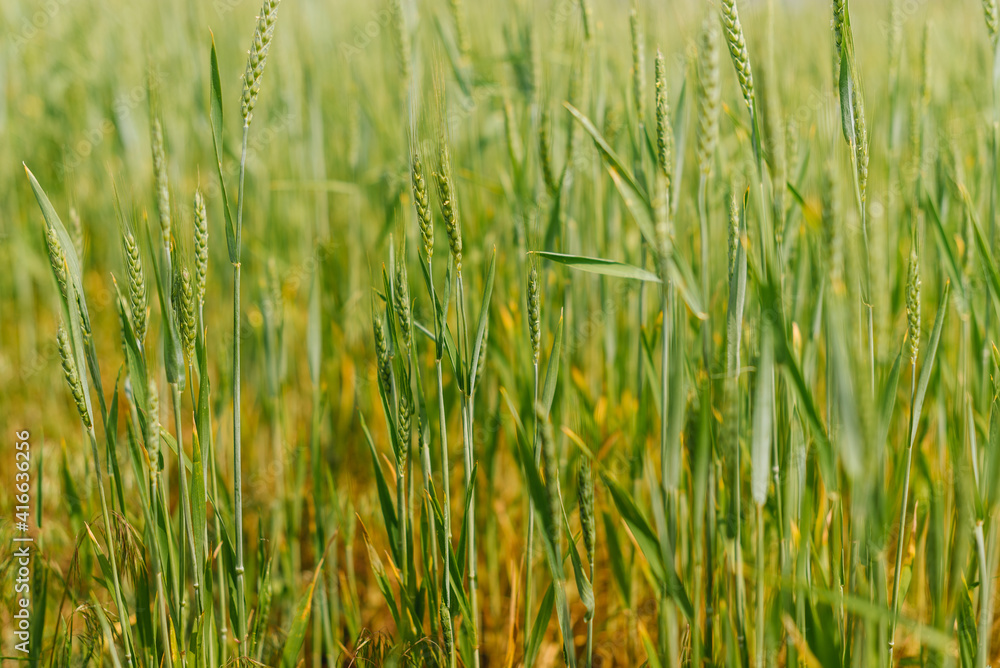
[[[240,153],[240,186],[236,202],[236,262],[233,263],[233,508],[236,525],[236,641],[239,656],[247,656],[246,584],[243,565],[243,445],[240,441],[240,255],[243,231],[243,184],[246,176],[247,135],[250,124],[243,124],[243,148]]]

